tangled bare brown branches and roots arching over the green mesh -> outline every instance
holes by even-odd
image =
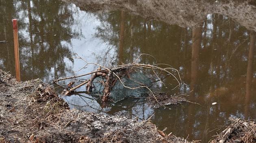
[[[148,55],[148,54],[141,54],[139,57],[141,57],[142,55]],[[76,56],[77,56],[76,58],[82,59],[77,54],[76,54]],[[151,55],[149,55],[149,56],[151,56]],[[150,90],[150,88],[148,86],[146,86],[144,84],[141,84],[141,86],[131,88],[131,87],[126,86],[124,84],[124,82],[121,80],[121,78],[122,77],[128,77],[129,78],[130,73],[137,72],[136,71],[137,69],[143,71],[142,69],[144,68],[144,69],[151,69],[154,72],[155,76],[158,79],[160,79],[158,77],[158,75],[156,74],[156,71],[158,70],[159,74],[165,73],[165,74],[167,74],[167,76],[171,76],[177,81],[177,83],[178,83],[177,86],[173,88],[173,89],[175,89],[178,86],[180,86],[180,84],[181,84],[180,74],[178,73],[178,70],[171,67],[171,65],[167,65],[167,64],[146,65],[146,64],[136,63],[139,60],[139,57],[135,60],[135,62],[133,62],[131,64],[118,65],[117,67],[114,67],[114,68],[111,68],[111,69],[107,68],[107,67],[104,67],[102,65],[99,65],[97,63],[88,63],[87,61],[85,61],[85,59],[82,59],[86,63],[85,67],[89,64],[93,64],[93,65],[99,66],[99,68],[96,71],[93,71],[93,72],[90,72],[90,73],[87,73],[87,74],[82,74],[82,75],[79,75],[79,76],[72,76],[72,77],[67,77],[67,78],[59,78],[57,80],[54,80],[53,82],[58,82],[58,81],[61,81],[61,80],[67,80],[67,79],[71,79],[71,78],[78,78],[78,77],[87,76],[87,75],[91,74],[91,78],[89,80],[75,86],[74,88],[71,88],[71,89],[67,90],[64,95],[69,95],[72,91],[76,90],[77,88],[79,88],[80,86],[85,85],[85,84],[87,84],[86,85],[87,93],[90,93],[92,91],[92,88],[93,88],[93,86],[92,86],[93,80],[97,77],[101,77],[101,78],[104,79],[104,80],[101,81],[102,85],[104,86],[102,101],[107,101],[108,100],[108,97],[111,94],[111,88],[115,85],[115,82],[119,81],[119,82],[121,82],[121,84],[125,88],[129,88],[129,89],[132,89],[132,90],[137,89],[137,88],[146,88],[146,89],[148,89],[150,91],[150,93],[152,94],[152,97],[154,97],[154,99],[156,100],[156,103],[158,103],[160,105],[160,103],[158,102],[158,100],[154,96],[154,93],[152,92],[152,90]],[[151,57],[153,57],[153,56],[151,56]],[[162,68],[162,67],[159,67],[160,65],[161,66],[167,66],[167,67]],[[174,76],[173,71],[177,71],[178,76],[179,76],[178,78],[176,78],[176,76]],[[145,71],[143,71],[143,72],[145,72]]]

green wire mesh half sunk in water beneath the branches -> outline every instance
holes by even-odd
[[[92,94],[102,94],[104,90],[104,86],[102,85],[103,79],[98,77],[93,80],[93,92]],[[130,88],[136,88],[139,86],[152,86],[151,80],[142,73],[131,73],[130,76],[126,76],[121,78],[122,82],[125,86],[128,86]],[[105,80],[104,80],[105,82]],[[127,97],[141,97],[148,93],[148,89],[145,87],[142,88],[136,88],[136,89],[130,89],[124,87],[124,85],[117,80],[115,85],[111,89],[110,98],[114,102],[121,101]]]

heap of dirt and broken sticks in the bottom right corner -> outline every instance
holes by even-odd
[[[230,118],[231,124],[211,143],[256,143],[256,120]]]

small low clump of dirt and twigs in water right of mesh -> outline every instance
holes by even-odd
[[[159,104],[156,102],[156,99]],[[182,96],[172,96],[172,95],[167,95],[165,93],[158,93],[158,92],[154,92],[154,95],[150,93],[146,100],[148,105],[153,108],[164,107],[165,105],[176,105],[183,101],[187,101]]]

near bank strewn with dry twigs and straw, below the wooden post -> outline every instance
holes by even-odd
[[[4,71],[0,77],[0,142],[186,142],[150,120],[69,109],[39,79],[18,83]]]

